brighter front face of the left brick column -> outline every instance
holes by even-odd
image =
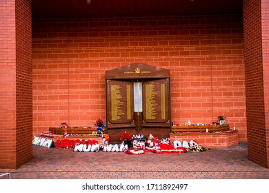
[[[0,1],[0,167],[14,167],[16,154],[16,44],[14,1]],[[8,140],[10,139],[10,140]]]

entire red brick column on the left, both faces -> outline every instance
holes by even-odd
[[[30,0],[0,1],[0,168],[32,159]]]

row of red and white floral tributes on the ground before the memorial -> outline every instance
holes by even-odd
[[[101,121],[100,121],[101,122]],[[97,139],[85,139],[85,136],[81,135],[82,139],[79,139],[79,135],[74,135],[77,139],[68,139],[68,135],[59,136],[55,141],[48,139],[50,136],[57,136],[52,134],[51,131],[42,132],[43,137],[34,136],[33,145],[40,145],[46,148],[64,148],[74,149],[74,152],[126,152],[126,154],[144,154],[146,152],[152,152],[155,154],[182,154],[184,152],[203,152],[208,148],[203,148],[195,140],[190,141],[171,141],[170,138],[158,139],[157,136],[150,134],[146,139],[143,134],[130,134],[124,132],[119,139],[122,141],[120,144],[109,144],[110,136],[108,134],[95,135],[94,137],[101,137],[101,143]],[[67,138],[66,138],[67,137]]]

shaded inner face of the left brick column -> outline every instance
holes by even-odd
[[[17,167],[32,159],[32,7],[16,1]],[[23,148],[21,148],[23,147]]]

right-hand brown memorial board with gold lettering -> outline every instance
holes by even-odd
[[[166,123],[170,118],[169,80],[155,79],[143,83],[143,121]]]

